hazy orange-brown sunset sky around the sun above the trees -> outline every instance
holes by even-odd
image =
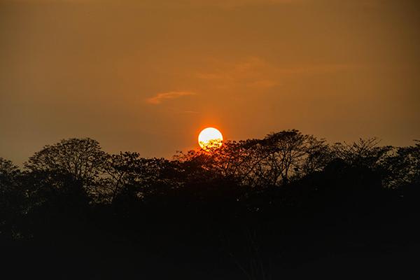
[[[207,126],[412,144],[418,3],[2,0],[0,157],[69,137],[169,157]]]

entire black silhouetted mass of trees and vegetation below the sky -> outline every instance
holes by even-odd
[[[92,139],[0,159],[3,279],[416,279],[420,145],[378,144],[291,130],[173,160]]]

